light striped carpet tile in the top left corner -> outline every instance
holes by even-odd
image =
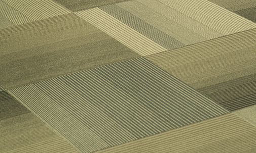
[[[70,11],[51,0],[1,0],[0,29],[67,13]]]

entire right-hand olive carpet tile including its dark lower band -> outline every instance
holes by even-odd
[[[256,29],[146,57],[233,111],[256,104]]]

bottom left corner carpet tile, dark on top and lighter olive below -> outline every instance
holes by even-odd
[[[0,152],[77,152],[8,92],[0,92]]]

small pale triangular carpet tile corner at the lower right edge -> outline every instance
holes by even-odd
[[[234,111],[234,113],[256,126],[256,105]]]

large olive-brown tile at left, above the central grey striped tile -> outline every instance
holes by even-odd
[[[0,50],[5,89],[140,57],[76,14],[2,29]]]

